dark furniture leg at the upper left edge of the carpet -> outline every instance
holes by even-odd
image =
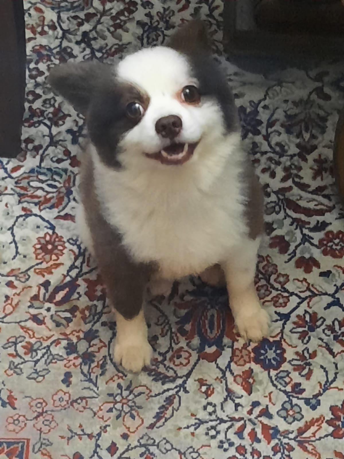
[[[23,2],[0,0],[0,157],[21,151],[25,66]]]

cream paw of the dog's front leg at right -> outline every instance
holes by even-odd
[[[262,308],[252,313],[245,311],[235,317],[235,326],[245,341],[261,341],[269,332],[269,314]]]

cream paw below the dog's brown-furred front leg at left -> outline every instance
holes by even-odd
[[[119,365],[134,373],[139,373],[145,365],[150,364],[152,347],[147,339],[133,339],[124,343],[116,342],[114,360]]]

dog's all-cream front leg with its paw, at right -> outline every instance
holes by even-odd
[[[245,340],[252,341],[267,336],[269,327],[269,316],[261,308],[254,283],[258,246],[258,239],[247,239],[222,265],[235,325]]]

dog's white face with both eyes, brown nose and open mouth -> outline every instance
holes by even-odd
[[[139,95],[124,107],[135,125],[118,147],[150,162],[180,165],[190,160],[208,130],[219,124],[216,103],[201,95],[187,58],[171,48],[141,50],[120,62],[117,78]],[[125,90],[124,90],[125,91]],[[125,161],[124,155],[123,160]]]

